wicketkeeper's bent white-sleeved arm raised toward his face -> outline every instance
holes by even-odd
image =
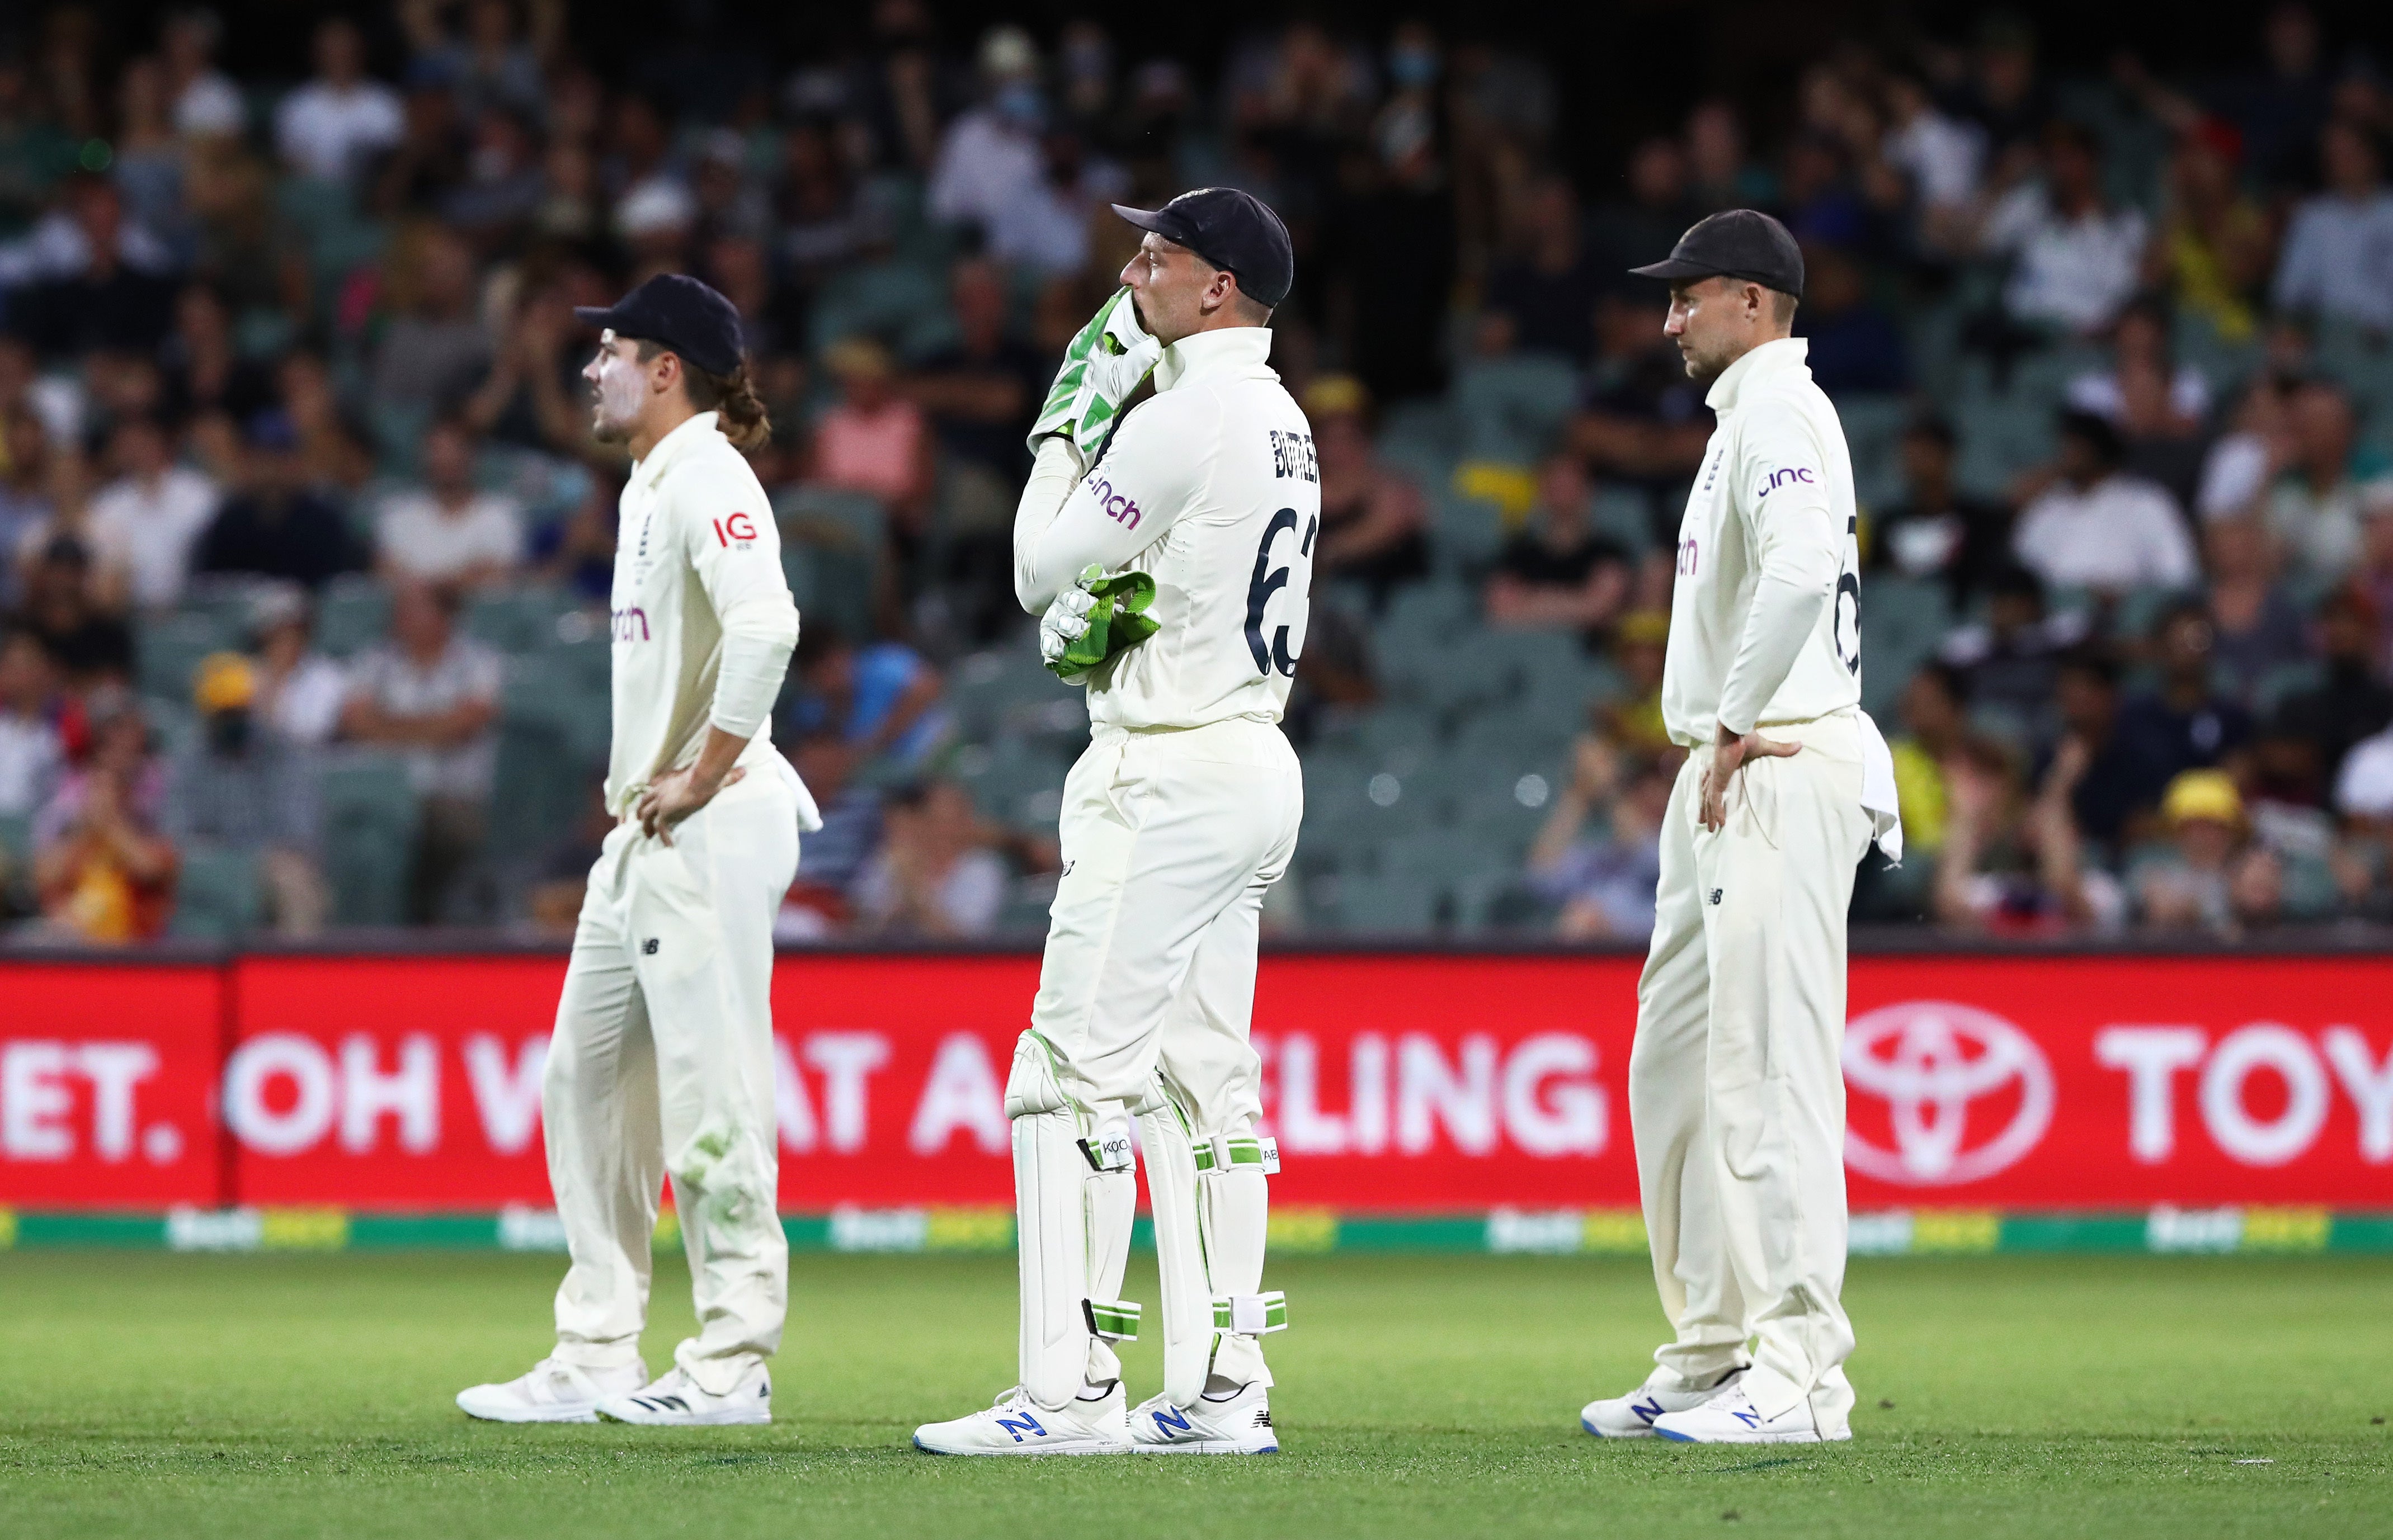
[[[1022,607],[1039,615],[1084,569],[1118,572],[1161,540],[1204,497],[1218,450],[1220,402],[1211,392],[1189,392],[1187,399],[1158,395],[1122,418],[1103,459],[1072,483],[1046,521],[1036,519],[1024,490],[1024,509],[1015,517],[1015,598]],[[1053,464],[1060,471],[1065,462],[1058,454]]]

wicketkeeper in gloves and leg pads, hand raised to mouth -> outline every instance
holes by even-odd
[[[1280,732],[1304,650],[1321,483],[1304,414],[1268,368],[1287,237],[1247,194],[1156,213],[1058,375],[1015,521],[1015,591],[1067,672],[1120,574],[1149,574],[1153,634],[1077,674],[1089,748],[1065,782],[1062,880],[1015,1052],[1019,1385],[924,1425],[933,1454],[1266,1454],[1285,1325],[1264,1289],[1271,1141],[1247,1040],[1266,890],[1304,813]],[[1201,256],[1199,256],[1201,253]],[[1134,297],[1134,301],[1132,301]],[[1110,418],[1139,378],[1153,397]],[[1106,428],[1110,438],[1106,435]],[[1084,447],[1101,454],[1084,469]],[[1120,615],[1113,624],[1120,624]],[[1113,1342],[1144,1155],[1163,1298],[1163,1392],[1134,1411]]]

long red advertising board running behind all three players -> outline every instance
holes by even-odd
[[[244,957],[220,976],[225,1052],[208,968],[7,966],[0,1203],[546,1205],[562,968]],[[1005,1203],[1036,971],[785,957],[783,1208]],[[1266,959],[1278,1200],[1634,1205],[1634,988],[1632,957]],[[2393,959],[1864,957],[1845,1071],[1855,1208],[2393,1203]]]

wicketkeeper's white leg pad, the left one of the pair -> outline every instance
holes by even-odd
[[[1046,1043],[1022,1033],[1005,1081],[1015,1138],[1015,1229],[1022,1272],[1022,1392],[1058,1411],[1089,1365],[1089,1160],[1048,1064]],[[1108,1289],[1110,1294],[1110,1289]]]

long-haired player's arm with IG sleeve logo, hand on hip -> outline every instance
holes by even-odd
[[[675,488],[680,545],[723,627],[706,741],[687,768],[656,777],[634,815],[649,835],[689,818],[735,784],[735,760],[763,727],[797,648],[797,605],[780,572],[780,531],[756,483],[744,476],[692,478]],[[754,507],[749,507],[754,502]]]

